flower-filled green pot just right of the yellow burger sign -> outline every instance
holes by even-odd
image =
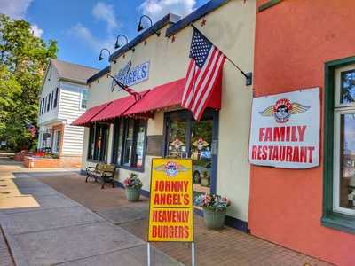
[[[231,203],[225,197],[206,193],[196,197],[195,205],[203,208],[203,220],[207,228],[220,229],[225,223],[225,213]]]

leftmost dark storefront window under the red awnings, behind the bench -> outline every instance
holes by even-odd
[[[106,161],[109,125],[95,124],[90,128],[88,159]]]

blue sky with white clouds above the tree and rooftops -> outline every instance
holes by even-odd
[[[139,17],[154,21],[168,12],[186,15],[208,0],[0,0],[0,13],[25,19],[44,41],[58,41],[58,59],[103,68],[99,51],[114,50],[115,36],[137,33]],[[148,24],[148,23],[146,23]],[[124,41],[122,41],[124,43]]]

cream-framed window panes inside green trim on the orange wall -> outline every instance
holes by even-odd
[[[335,84],[335,211],[355,215],[355,69]]]

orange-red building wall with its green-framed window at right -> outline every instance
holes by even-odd
[[[354,265],[355,5],[259,0],[257,6],[255,97],[319,88],[320,142],[317,167],[251,166],[248,227],[281,246]]]

